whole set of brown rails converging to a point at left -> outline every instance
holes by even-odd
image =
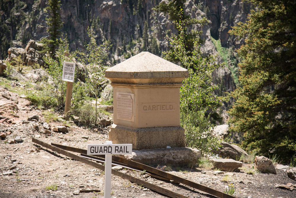
[[[81,161],[81,162],[83,162],[85,164],[96,167],[98,169],[105,170],[104,165],[100,165],[99,163],[97,163],[97,162],[104,162],[105,155],[96,155],[96,157],[94,157],[94,156],[91,156],[91,155],[87,155],[87,150],[85,150],[85,149],[78,149],[78,148],[75,148],[75,147],[63,146],[63,145],[55,144],[55,143],[47,144],[47,143],[42,142],[40,140],[37,140],[35,138],[32,138],[32,142],[34,142],[36,144],[39,144],[41,146],[44,146],[44,147],[46,147],[48,149],[51,149],[53,151],[56,151],[57,153],[63,154],[65,156],[67,156],[67,157],[76,159],[76,160]],[[79,154],[81,154],[81,156],[75,155],[75,154],[70,153],[68,151],[79,153]],[[96,162],[94,162],[93,160],[96,161]],[[209,188],[207,186],[203,186],[201,184],[189,181],[187,179],[178,177],[176,175],[172,175],[172,174],[164,172],[162,170],[158,170],[156,168],[141,164],[139,162],[135,162],[135,161],[126,159],[124,157],[119,157],[119,156],[112,155],[112,165],[119,165],[119,166],[122,166],[122,167],[125,167],[125,168],[128,168],[128,169],[137,170],[137,171],[146,170],[145,174],[150,175],[151,177],[155,177],[155,178],[162,179],[162,180],[165,180],[165,181],[173,180],[174,183],[181,183],[181,184],[192,187],[194,189],[198,189],[200,191],[206,192],[206,193],[211,194],[211,195],[216,196],[216,197],[234,198],[234,196],[223,193],[221,191],[217,191],[217,190]],[[156,192],[158,192],[160,194],[163,194],[163,195],[166,195],[168,197],[187,198],[187,196],[185,196],[185,195],[178,194],[176,192],[170,191],[170,190],[162,188],[160,186],[156,186],[154,184],[148,183],[147,181],[143,181],[143,180],[141,180],[139,178],[135,178],[135,177],[133,177],[131,175],[121,173],[120,171],[117,171],[117,170],[112,169],[112,174],[116,175],[116,176],[119,176],[119,177],[121,177],[123,179],[127,179],[127,180],[129,180],[129,181],[131,181],[133,183],[137,183],[138,185],[142,185],[142,186],[144,186],[146,188],[149,188],[149,189],[151,189],[153,191],[156,191]]]

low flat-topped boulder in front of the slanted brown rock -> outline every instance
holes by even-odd
[[[234,159],[210,159],[213,163],[214,168],[222,171],[234,171],[242,167],[242,162],[235,161]]]

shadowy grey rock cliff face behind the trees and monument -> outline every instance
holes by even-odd
[[[67,34],[71,50],[83,51],[89,42],[87,28],[91,27],[98,43],[103,40],[110,40],[112,43],[110,64],[114,65],[143,50],[142,35],[144,23],[147,21],[148,40],[156,40],[159,48],[157,55],[161,55],[161,52],[168,49],[165,35],[169,30],[173,33],[176,33],[176,30],[167,15],[152,9],[159,3],[160,0],[61,0],[61,32]],[[5,4],[0,4],[0,7],[3,10],[0,30],[4,35],[0,46],[0,60],[10,56],[11,53],[7,54],[9,47],[25,48],[30,39],[39,41],[48,36],[47,0],[7,0]],[[205,42],[202,53],[216,55],[219,52],[213,39],[220,40],[222,47],[231,48],[233,51],[242,44],[242,40],[235,40],[228,31],[235,23],[246,20],[250,5],[241,0],[188,0],[185,3],[185,12],[192,18],[206,16],[210,20],[208,25],[195,25],[192,28],[203,31],[202,39]],[[34,62],[33,54],[36,53],[31,49],[25,50],[32,55],[28,61]],[[218,55],[217,62],[226,62],[228,65],[215,72],[214,82],[221,84],[223,91],[233,90],[233,70],[230,71],[229,68],[237,67],[237,61],[231,62]]]

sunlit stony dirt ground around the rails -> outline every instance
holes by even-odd
[[[3,94],[7,94],[8,97],[3,97]],[[109,128],[95,131],[74,124],[70,126],[68,123],[70,126],[68,132],[51,130],[49,135],[44,133],[46,124],[42,124],[44,116],[41,113],[40,110],[30,106],[30,103],[24,98],[0,87],[0,116],[8,118],[0,121],[0,133],[7,134],[6,138],[0,140],[0,197],[104,197],[104,171],[47,149],[37,149],[38,146],[32,143],[32,137],[46,143],[86,149],[87,144],[105,143],[108,140]],[[39,120],[28,121],[28,117],[34,115],[38,115]],[[51,122],[48,124],[52,129],[63,123]],[[17,136],[20,136],[22,142],[9,144],[9,140],[15,139]],[[249,166],[252,165],[244,164],[239,173],[216,174],[214,170],[187,167],[172,167],[171,173],[220,191],[224,191],[226,186],[233,183],[236,197],[296,197],[296,190],[275,187],[276,184],[287,183],[296,186],[296,181],[288,178],[287,172],[284,170],[277,170],[276,175],[263,173],[250,175],[244,171]],[[12,175],[5,175],[9,171],[12,172]],[[123,169],[121,171],[188,197],[213,197],[183,185],[157,180],[131,170]],[[222,181],[226,177],[229,178],[228,183]],[[50,187],[53,190],[49,189]],[[55,187],[56,189],[54,189]],[[75,191],[80,189],[101,190],[101,192],[73,195]],[[111,189],[112,197],[165,197],[113,175]]]

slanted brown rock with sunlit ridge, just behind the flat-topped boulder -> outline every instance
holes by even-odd
[[[230,158],[230,159],[239,159],[242,155],[248,156],[246,151],[239,148],[239,146],[235,144],[229,144],[227,142],[222,142],[221,147],[218,148],[217,151],[213,151],[214,154],[218,154],[223,158]]]

